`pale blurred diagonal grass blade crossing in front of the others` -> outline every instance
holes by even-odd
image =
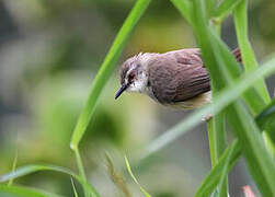
[[[206,114],[217,114],[227,107],[230,103],[234,102],[244,91],[251,88],[254,82],[261,78],[266,78],[275,72],[275,58],[270,59],[256,70],[244,73],[240,79],[236,80],[232,85],[226,88],[218,93],[215,103],[211,103],[200,109],[192,113],[182,123],[175,125],[173,128],[165,131],[156,140],[149,143],[141,152],[141,157],[148,157],[168,146],[181,135],[186,134],[188,130],[202,123]]]

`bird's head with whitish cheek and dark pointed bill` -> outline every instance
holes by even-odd
[[[124,91],[144,93],[148,83],[147,66],[150,54],[139,54],[127,59],[121,67],[121,89],[116,92],[117,99]]]

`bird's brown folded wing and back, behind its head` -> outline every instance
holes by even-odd
[[[152,92],[161,103],[183,102],[210,90],[198,49],[161,55],[149,67],[149,76]]]

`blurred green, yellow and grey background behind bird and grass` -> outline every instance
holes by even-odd
[[[89,89],[134,0],[1,0],[0,1],[0,174],[18,165],[51,163],[77,171],[69,141]],[[275,50],[275,1],[250,2],[250,37],[257,59]],[[222,38],[237,47],[232,19]],[[138,94],[114,94],[118,68],[140,51],[164,53],[195,47],[192,28],[168,0],[152,1],[138,23],[83,141],[81,153],[89,181],[104,197],[123,196],[112,183],[104,152],[124,176],[133,196],[142,196],[125,171],[124,154],[135,152],[188,113],[164,108]],[[274,94],[275,79],[267,80]],[[233,138],[229,134],[229,138]],[[133,166],[154,197],[190,197],[210,170],[206,124],[156,155]],[[243,162],[229,176],[230,194],[243,196],[250,185]],[[16,181],[64,196],[73,196],[68,176],[35,173]]]

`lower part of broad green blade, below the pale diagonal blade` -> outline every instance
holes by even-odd
[[[264,140],[245,107],[236,102],[228,107],[230,127],[238,136],[250,173],[264,196],[275,195],[275,165]]]

